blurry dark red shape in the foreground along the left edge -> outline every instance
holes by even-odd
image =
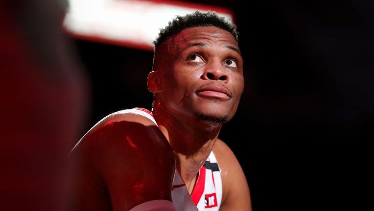
[[[63,210],[66,157],[89,97],[63,15],[53,0],[0,1],[2,211]]]

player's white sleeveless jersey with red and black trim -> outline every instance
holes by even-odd
[[[152,120],[156,125],[156,120],[152,113],[144,108],[133,108],[119,113],[139,114]],[[213,154],[205,161],[199,171],[196,185],[189,195],[185,182],[178,170],[175,170],[172,200],[177,211],[218,211],[222,200],[222,181],[217,160]]]

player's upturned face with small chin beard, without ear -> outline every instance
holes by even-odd
[[[163,45],[157,70],[164,107],[177,119],[230,120],[244,88],[243,59],[234,36],[213,26],[193,27]]]

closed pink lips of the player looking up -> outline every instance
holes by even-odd
[[[200,97],[229,100],[233,97],[231,91],[220,84],[205,84],[196,91]]]

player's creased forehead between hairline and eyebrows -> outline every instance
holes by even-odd
[[[171,40],[172,44],[179,48],[183,48],[191,42],[225,42],[238,47],[238,43],[230,32],[215,26],[187,28],[179,32]]]

